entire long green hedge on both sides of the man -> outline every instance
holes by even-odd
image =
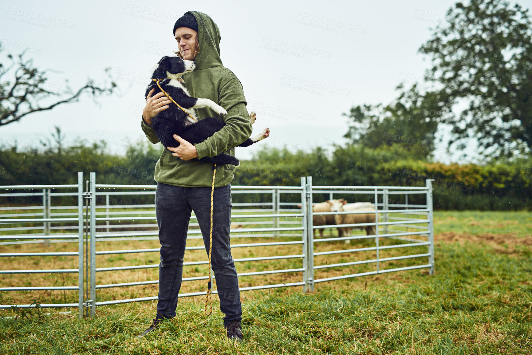
[[[130,146],[126,156],[106,153],[104,143],[80,142],[44,152],[4,147],[0,149],[0,185],[76,184],[77,171],[84,171],[86,177],[89,171],[96,171],[98,183],[155,184],[153,169],[160,153],[159,146],[148,143]],[[264,149],[254,159],[242,161],[232,184],[298,186],[302,176],[312,176],[314,185],[367,186],[424,186],[430,178],[434,179],[436,209],[520,210],[532,206],[530,159],[445,165],[411,160],[409,152],[397,146],[377,150],[336,146],[332,152],[322,148],[307,152]],[[244,198],[250,196],[236,195],[234,201]],[[271,201],[267,195],[252,198]],[[131,202],[149,199],[153,197],[139,196]]]

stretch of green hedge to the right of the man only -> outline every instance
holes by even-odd
[[[243,162],[234,184],[295,186],[305,175],[314,185],[425,186],[430,178],[435,208],[443,210],[532,207],[530,160],[446,165],[410,160],[398,147],[336,147],[330,155],[321,148],[309,153],[264,150]]]

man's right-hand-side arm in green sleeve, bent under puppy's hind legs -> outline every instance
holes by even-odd
[[[250,114],[246,109],[246,99],[242,84],[237,78],[231,79],[220,90],[219,105],[226,109],[226,125],[211,137],[195,144],[198,159],[228,151],[251,136]]]

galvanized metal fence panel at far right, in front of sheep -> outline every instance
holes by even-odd
[[[332,228],[332,227],[339,227],[339,228],[364,228],[364,227],[375,227],[375,234],[370,234],[369,230],[366,230],[367,235],[343,235],[340,237],[332,237],[332,238],[319,238],[316,240],[313,240],[314,246],[317,246],[318,244],[330,244],[329,242],[337,242],[345,240],[346,243],[350,242],[352,240],[355,241],[370,241],[373,240],[374,246],[368,246],[368,247],[358,247],[356,249],[335,249],[335,250],[329,250],[325,252],[319,252],[314,251],[313,257],[323,257],[325,255],[340,255],[340,254],[350,254],[350,253],[363,253],[363,252],[372,252],[375,255],[374,259],[362,259],[358,261],[349,261],[349,262],[339,262],[339,263],[332,263],[332,264],[323,264],[323,263],[317,263],[317,260],[314,260],[315,270],[323,270],[323,269],[330,269],[331,267],[350,267],[354,265],[369,265],[369,264],[375,264],[375,270],[374,271],[365,271],[361,273],[355,273],[355,274],[349,274],[349,275],[342,275],[342,276],[335,276],[335,277],[316,277],[314,278],[314,282],[326,282],[330,280],[337,280],[337,279],[345,279],[345,278],[351,278],[351,277],[358,277],[358,276],[367,276],[367,275],[377,275],[380,273],[388,273],[392,271],[398,271],[398,270],[410,270],[410,269],[417,269],[422,267],[428,267],[429,273],[433,274],[433,267],[434,267],[434,232],[433,230],[433,211],[432,211],[432,187],[431,187],[431,180],[426,181],[427,185],[426,187],[400,187],[400,186],[313,186],[312,193],[314,194],[320,194],[320,193],[328,193],[329,199],[332,200],[332,197],[334,197],[334,194],[351,194],[353,196],[353,199],[356,199],[357,195],[373,195],[372,196],[372,204],[375,207],[375,221],[373,222],[356,222],[356,223],[347,223],[347,224],[336,224],[336,225],[325,225],[325,226],[314,226],[313,229],[321,229],[321,228]],[[370,190],[372,188],[372,190]],[[425,204],[412,204],[408,202],[408,196],[411,194],[421,194],[426,195],[426,203]],[[398,196],[398,195],[404,195],[405,196],[405,203],[390,203],[389,199],[391,196]],[[380,198],[382,200],[380,200]],[[394,197],[396,199],[396,197]],[[358,201],[358,200],[356,200]],[[359,201],[362,202],[362,201]],[[371,209],[372,210],[372,209]],[[318,215],[350,215],[350,216],[365,216],[369,215],[371,210],[367,209],[361,209],[361,211],[333,211],[333,212],[314,212],[314,216]],[[310,213],[310,212],[309,212]],[[417,217],[398,217],[397,214],[401,214],[403,216],[408,216],[408,214],[422,214],[423,216],[426,216],[426,218],[417,218]],[[382,217],[381,217],[382,215]],[[426,226],[423,226],[422,224],[426,224]],[[403,229],[400,229],[403,228]],[[412,231],[411,229],[418,229],[418,231]],[[420,230],[421,229],[421,230]],[[420,231],[419,231],[420,230]],[[421,237],[414,238],[415,236]],[[423,240],[423,238],[427,238],[427,240]],[[398,244],[390,244],[386,245],[381,244],[381,242],[386,242],[387,240],[395,240],[400,241],[401,243]],[[416,253],[411,255],[401,255],[401,256],[394,256],[394,257],[383,257],[381,255],[381,252],[385,251],[392,251],[392,250],[398,250],[398,249],[406,249],[408,250],[410,247],[419,247],[419,246],[425,246],[427,247],[426,253]],[[415,259],[415,258],[425,258],[428,257],[428,263],[426,265],[412,265],[407,267],[401,267],[401,268],[384,268],[383,263],[389,262],[389,261],[395,261],[395,260],[405,260],[405,259]],[[361,257],[362,258],[362,257]]]

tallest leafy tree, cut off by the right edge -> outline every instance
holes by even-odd
[[[425,80],[453,126],[450,144],[476,138],[493,158],[532,151],[532,26],[528,10],[504,0],[454,5],[419,51],[431,56]],[[456,104],[467,103],[459,115]]]

